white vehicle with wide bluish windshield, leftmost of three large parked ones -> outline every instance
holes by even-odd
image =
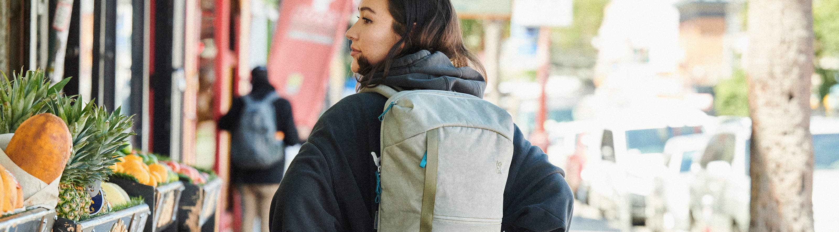
[[[604,126],[600,151],[590,154],[581,172],[589,204],[618,221],[623,230],[646,224],[654,177],[664,169],[664,143],[671,137],[701,133],[702,123],[649,120]]]

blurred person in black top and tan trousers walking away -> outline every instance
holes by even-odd
[[[268,232],[271,198],[284,173],[284,149],[300,143],[291,104],[268,83],[268,70],[251,71],[252,89],[233,99],[230,111],[218,121],[232,132],[231,179],[242,194],[242,231],[253,232],[254,219]]]

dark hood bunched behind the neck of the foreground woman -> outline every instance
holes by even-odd
[[[379,74],[381,75],[381,74]],[[446,54],[420,50],[394,59],[384,85],[405,90],[447,90],[483,98],[486,80],[469,67],[456,68]]]

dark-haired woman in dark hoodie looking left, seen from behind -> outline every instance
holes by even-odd
[[[411,221],[408,223],[414,223],[414,219],[420,217],[418,210],[410,212],[391,211],[378,214],[379,193],[416,187],[415,182],[405,182],[403,186],[398,186],[399,184],[389,187],[382,185],[381,188],[378,188],[378,165],[381,158],[378,154],[384,152],[380,147],[380,142],[386,141],[383,137],[380,137],[385,136],[383,132],[385,127],[382,125],[390,125],[383,124],[381,120],[384,119],[385,122],[388,122],[387,120],[399,120],[399,118],[388,118],[388,116],[393,115],[393,111],[408,111],[404,109],[409,109],[411,106],[393,106],[396,102],[391,102],[389,105],[393,109],[387,107],[391,111],[388,113],[388,110],[384,109],[386,108],[384,107],[386,106],[385,103],[388,101],[388,97],[385,97],[387,94],[369,92],[369,90],[384,87],[384,89],[378,88],[378,90],[451,91],[449,95],[460,95],[461,99],[469,99],[468,102],[474,103],[476,106],[487,106],[481,105],[486,101],[481,101],[475,97],[482,97],[486,87],[482,71],[466,67],[468,63],[471,63],[478,70],[482,70],[482,66],[475,56],[466,50],[462,42],[458,18],[450,0],[362,0],[359,5],[359,13],[357,23],[347,30],[346,36],[347,39],[352,41],[351,55],[353,59],[351,69],[354,73],[360,75],[357,78],[358,85],[363,88],[361,93],[347,96],[320,116],[308,141],[303,144],[300,152],[291,162],[289,171],[274,196],[270,216],[272,231],[374,231],[378,229],[380,225],[378,219],[383,214],[387,214],[388,217]],[[446,92],[438,91],[436,93],[446,95]],[[414,102],[419,101],[422,100]],[[405,104],[400,103],[399,105]],[[494,110],[481,111],[480,108],[469,107],[477,110],[457,115],[473,116],[474,121],[492,121],[492,117],[495,115],[483,115],[482,113],[496,113]],[[498,108],[497,106],[492,107]],[[459,111],[459,109],[453,108],[449,111]],[[506,112],[503,112],[503,114],[506,115],[506,118],[509,118]],[[441,113],[438,116],[445,115],[445,113]],[[487,168],[491,170],[471,168],[468,161],[462,167],[455,167],[456,169],[460,168],[464,173],[488,171],[485,177],[464,180],[460,176],[440,175],[440,178],[435,179],[447,178],[446,181],[451,181],[451,179],[465,181],[466,186],[476,188],[472,190],[472,193],[464,192],[463,189],[456,189],[459,192],[456,192],[455,195],[457,193],[467,193],[480,198],[482,192],[479,189],[485,187],[482,186],[482,181],[484,181],[482,178],[495,178],[498,170],[498,174],[507,175],[499,186],[493,186],[499,189],[490,190],[492,190],[491,192],[503,192],[503,199],[498,198],[486,202],[476,199],[466,202],[440,203],[440,198],[451,197],[452,193],[446,192],[451,189],[431,190],[437,191],[437,203],[446,204],[443,207],[447,210],[484,209],[487,204],[497,204],[498,208],[490,207],[490,210],[488,210],[490,212],[481,213],[498,214],[500,222],[495,219],[484,218],[483,220],[492,221],[481,222],[481,219],[477,219],[478,221],[464,224],[462,220],[458,220],[461,218],[446,216],[440,217],[447,219],[438,218],[438,214],[436,214],[438,212],[434,211],[434,226],[447,228],[438,229],[435,227],[435,229],[439,231],[466,231],[463,228],[469,228],[468,231],[477,231],[473,230],[474,227],[485,225],[481,227],[483,230],[479,231],[488,231],[487,229],[492,230],[498,227],[508,232],[566,231],[571,224],[574,199],[571,189],[565,183],[565,173],[562,169],[551,165],[547,156],[539,147],[532,146],[530,142],[525,140],[519,128],[513,125],[512,120],[502,118],[504,116],[498,116],[496,122],[498,122],[497,124],[504,124],[503,120],[509,122],[508,127],[503,129],[508,130],[509,137],[497,141],[498,144],[508,144],[509,147],[504,147],[504,149],[512,154],[505,155],[511,158],[506,161],[499,160],[497,162],[498,169],[496,169],[494,158],[492,168]],[[443,120],[442,118],[437,119]],[[424,125],[422,123],[433,123],[433,120],[420,118],[420,121],[417,121],[416,124],[408,123],[404,125],[404,128],[397,128],[397,130],[416,129]],[[472,120],[464,119],[461,121],[468,123]],[[484,130],[472,134],[474,137],[483,137],[490,134],[490,136],[494,136],[496,133],[482,128],[463,126],[458,128]],[[388,127],[388,131],[393,130],[392,127]],[[394,133],[399,133],[399,131],[394,131]],[[427,149],[425,150],[425,156],[423,156],[422,150],[418,153],[422,156],[421,162],[420,158],[416,157],[415,161],[419,166],[412,164],[409,165],[410,167],[405,166],[404,168],[414,168],[412,170],[425,172],[418,169],[425,168],[425,157],[428,157],[428,163],[434,162],[433,165],[436,165],[436,160],[432,161],[431,157],[436,155],[432,155],[432,152],[439,152],[439,149],[425,147],[425,134],[423,132],[418,135],[422,136],[421,140],[412,141],[422,143],[414,147]],[[430,135],[430,132],[428,134],[430,144],[433,136]],[[387,137],[391,136],[387,135]],[[461,154],[460,152],[464,155],[475,153],[472,150],[459,150],[461,148],[457,147],[458,144],[461,147],[474,147],[474,144],[466,144],[466,142],[486,144],[490,148],[478,148],[482,151],[489,151],[484,153],[486,157],[498,155],[493,152],[499,150],[492,150],[497,146],[496,141],[480,141],[475,140],[474,137],[449,137],[446,141],[439,137],[434,138],[434,141],[451,146],[440,147],[440,149],[450,149],[444,152],[448,157],[455,159],[457,154]],[[409,142],[409,140],[405,139],[404,142]],[[393,151],[393,149],[387,151],[389,151],[388,154],[399,152]],[[442,157],[445,156],[440,155],[440,157],[440,160],[442,160]],[[394,161],[393,158],[382,159],[382,169],[388,165],[391,165],[390,168],[394,168],[394,162],[400,161]],[[475,162],[484,161],[475,160]],[[443,161],[440,161],[440,165],[444,165]],[[506,170],[503,167],[508,167],[506,173],[501,171]],[[451,167],[449,168],[451,170]],[[442,168],[435,169],[443,170]],[[404,174],[399,173],[399,171],[391,172],[394,172],[391,174],[396,175]],[[456,175],[456,173],[454,174]],[[425,175],[429,175],[429,173]],[[430,175],[437,174],[431,173]],[[382,179],[386,176],[381,174]],[[428,178],[425,179],[428,180]],[[420,179],[420,185],[422,185],[421,181],[422,179]],[[433,185],[426,183],[425,186]],[[381,190],[385,188],[386,190]],[[439,193],[442,193],[442,195]],[[446,193],[449,195],[446,195]],[[381,194],[381,196],[383,195]],[[414,194],[414,196],[426,197],[422,191]],[[499,194],[499,197],[501,197],[501,194]],[[381,198],[381,204],[393,205],[404,202],[414,204],[416,198],[391,198],[390,200],[390,202],[385,203],[385,198]],[[425,203],[425,199],[423,200]],[[423,205],[425,206],[425,204]],[[437,208],[440,205],[430,205],[435,210],[443,211],[443,209]],[[409,216],[401,217],[401,215]],[[422,217],[425,219],[426,216],[430,216],[430,214],[425,214],[425,209],[423,209]],[[419,219],[416,221],[419,221]],[[388,224],[393,223],[399,222],[388,221]],[[460,229],[452,229],[451,226]],[[423,228],[423,225],[420,225],[420,228]],[[425,228],[428,229],[428,227]],[[498,229],[494,230],[498,231]]]

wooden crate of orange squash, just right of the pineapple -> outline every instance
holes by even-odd
[[[142,196],[152,213],[146,222],[146,232],[177,231],[177,216],[180,194],[184,183],[175,181],[158,187],[151,187],[125,178],[111,177],[108,182],[116,183],[128,196]]]

